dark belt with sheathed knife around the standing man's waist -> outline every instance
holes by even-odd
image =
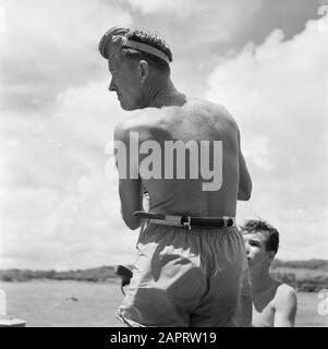
[[[172,216],[161,215],[150,212],[136,210],[135,217],[148,219],[149,224],[173,226],[181,228],[228,228],[235,227],[235,217],[191,217],[191,216]]]

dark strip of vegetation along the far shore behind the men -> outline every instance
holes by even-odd
[[[271,274],[275,278],[287,282],[299,291],[317,292],[328,289],[328,261],[274,261]],[[0,280],[22,282],[35,279],[75,280],[92,282],[112,282],[118,276],[113,266],[77,269],[68,272],[0,269]]]

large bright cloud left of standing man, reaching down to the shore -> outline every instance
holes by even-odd
[[[71,87],[56,105],[47,118],[1,116],[1,264],[131,263],[137,232],[124,226],[118,183],[105,176],[105,146],[126,113],[104,82]]]

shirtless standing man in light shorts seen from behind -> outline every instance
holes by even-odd
[[[233,326],[245,262],[236,201],[250,200],[252,191],[238,125],[223,107],[174,87],[172,53],[158,35],[114,27],[99,51],[112,76],[109,91],[124,110],[139,109],[114,130],[122,218],[132,230],[142,227],[117,316],[129,326]],[[147,141],[151,166],[143,166]],[[169,145],[190,141],[201,151],[190,149],[185,158],[177,151],[171,164]],[[202,151],[203,141],[209,147]],[[204,164],[216,170],[211,183]],[[149,213],[143,212],[144,190]]]

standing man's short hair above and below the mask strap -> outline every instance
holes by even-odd
[[[167,55],[170,62],[172,61],[172,52],[171,52],[169,45],[158,34],[150,33],[147,31],[133,31],[133,32],[127,32],[124,36],[129,40],[138,41],[142,44],[147,44],[149,46],[157,48],[158,50],[160,50],[165,55]],[[156,56],[153,56],[150,53],[141,52],[135,49],[127,48],[127,47],[123,47],[122,52],[127,59],[131,59],[131,60],[144,59],[150,65],[153,65],[154,68],[156,68],[160,71],[163,71],[163,72],[170,71],[170,67],[165,60],[162,60]]]

